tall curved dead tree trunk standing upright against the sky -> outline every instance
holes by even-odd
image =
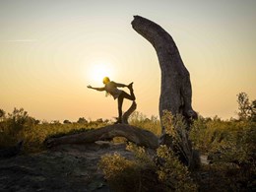
[[[192,89],[189,72],[184,66],[178,48],[172,37],[159,25],[140,16],[134,16],[133,29],[149,40],[157,51],[160,71],[160,117],[164,110],[173,115],[182,114],[186,120],[196,118],[197,113],[191,106]],[[189,125],[188,125],[189,126]],[[161,126],[160,144],[170,143]],[[191,149],[192,150],[192,149]]]

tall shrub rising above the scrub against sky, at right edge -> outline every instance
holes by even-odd
[[[256,121],[256,99],[249,101],[249,96],[242,92],[237,95],[237,102],[239,120]]]

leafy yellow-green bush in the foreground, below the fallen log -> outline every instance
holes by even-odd
[[[127,150],[134,154],[134,160],[114,154],[105,155],[98,162],[113,191],[197,190],[187,167],[166,146],[160,146],[156,158],[133,144]]]

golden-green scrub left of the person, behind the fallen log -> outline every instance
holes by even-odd
[[[24,141],[25,153],[42,151],[46,138],[79,133],[109,123],[108,120],[103,121],[102,119],[87,121],[82,117],[74,123],[67,120],[63,124],[59,121],[40,122],[29,116],[29,113],[23,108],[14,108],[13,112],[7,115],[1,109],[0,115],[0,148],[14,146],[19,141]]]

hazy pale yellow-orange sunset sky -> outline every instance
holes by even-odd
[[[0,108],[41,120],[112,118],[117,101],[87,89],[107,75],[134,82],[138,111],[158,115],[157,54],[131,26],[140,15],[176,42],[193,108],[235,117],[238,93],[256,98],[255,10],[255,0],[0,0]]]

